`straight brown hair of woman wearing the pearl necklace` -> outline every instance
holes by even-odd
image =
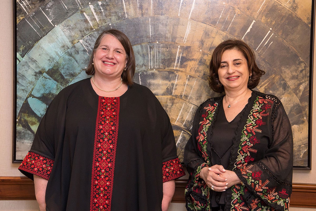
[[[94,65],[92,64],[93,63],[93,56],[94,56],[95,51],[97,50],[97,48],[100,45],[101,39],[106,34],[111,34],[112,36],[114,36],[116,39],[119,40],[119,42],[124,47],[124,50],[126,52],[127,63],[126,63],[126,69],[122,73],[122,80],[127,85],[132,85],[133,84],[133,77],[134,77],[134,73],[135,73],[134,51],[133,51],[131,42],[128,39],[128,37],[123,32],[121,32],[117,29],[109,29],[109,30],[103,31],[99,35],[98,39],[94,43],[94,47],[92,50],[92,55],[90,57],[88,67],[86,69],[83,69],[83,70],[85,70],[88,75],[94,75],[95,70],[94,70]]]

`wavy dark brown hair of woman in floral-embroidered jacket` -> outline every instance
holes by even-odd
[[[222,55],[224,51],[228,49],[236,49],[240,51],[247,59],[249,73],[251,74],[247,87],[249,89],[255,88],[259,84],[260,77],[265,74],[265,71],[258,68],[254,51],[242,40],[226,40],[215,48],[210,61],[209,84],[211,89],[219,93],[224,91],[224,87],[218,79],[218,69],[221,65]]]

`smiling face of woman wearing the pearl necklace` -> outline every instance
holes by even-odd
[[[106,34],[93,57],[95,74],[100,77],[121,77],[127,63],[122,44],[111,34]]]

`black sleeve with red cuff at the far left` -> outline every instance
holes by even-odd
[[[33,144],[19,166],[22,174],[49,179],[55,159],[56,140],[64,134],[66,102],[58,94],[46,110],[35,133]]]

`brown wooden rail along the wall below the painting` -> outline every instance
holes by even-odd
[[[185,203],[186,179],[176,180],[172,199]],[[290,207],[316,208],[316,184],[293,183]],[[35,200],[34,183],[27,177],[0,177],[0,200]]]

